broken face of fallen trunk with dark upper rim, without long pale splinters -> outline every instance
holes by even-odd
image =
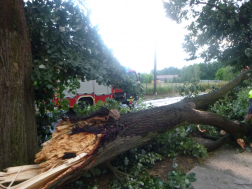
[[[58,167],[67,159],[86,153],[89,155],[98,146],[105,131],[106,124],[113,120],[119,120],[118,110],[101,108],[92,115],[76,120],[61,120],[52,134],[52,139],[43,144],[42,150],[36,154],[35,163],[40,163],[40,173],[46,172],[52,167]],[[109,123],[108,123],[109,122]],[[44,161],[44,162],[43,162]]]

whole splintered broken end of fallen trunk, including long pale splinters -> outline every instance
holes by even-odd
[[[85,117],[61,120],[52,139],[45,142],[36,154],[35,163],[40,164],[12,167],[7,172],[0,172],[0,188],[7,188],[2,185],[6,183],[10,183],[9,189],[47,188],[71,167],[92,157],[105,141],[115,139],[119,119],[117,110],[101,108]],[[12,186],[15,181],[24,182]]]

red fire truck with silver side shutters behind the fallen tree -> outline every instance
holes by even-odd
[[[135,70],[129,69],[128,76],[140,83],[140,78]],[[107,98],[114,98],[122,104],[127,105],[132,104],[134,100],[138,100],[136,94],[126,94],[121,89],[113,88],[112,85],[99,85],[95,80],[80,81],[80,88],[75,89],[75,94],[68,92],[68,90],[69,89],[67,88],[63,91],[63,94],[65,95],[64,98],[70,101],[69,108],[73,108],[74,104],[83,104],[85,106],[96,104],[99,100],[105,102]],[[57,94],[55,94],[55,104],[58,103],[58,100]]]

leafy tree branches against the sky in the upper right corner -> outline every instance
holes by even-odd
[[[237,71],[251,64],[251,1],[170,0],[164,1],[164,7],[176,22],[191,21],[183,45],[188,60],[218,59]]]

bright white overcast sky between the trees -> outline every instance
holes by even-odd
[[[157,70],[200,62],[184,60],[185,25],[165,16],[162,0],[91,0],[89,6],[92,24],[123,66],[150,73],[155,47]]]

